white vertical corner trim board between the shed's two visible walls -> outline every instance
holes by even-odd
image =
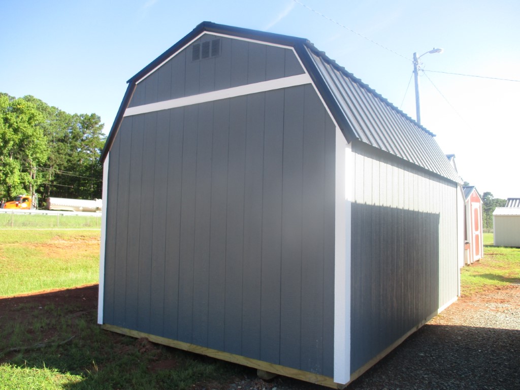
[[[334,382],[350,382],[350,205],[354,153],[336,127],[336,194],[334,248]]]

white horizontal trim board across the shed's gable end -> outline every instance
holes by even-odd
[[[283,77],[282,79],[263,81],[260,83],[246,84],[239,87],[220,89],[213,92],[206,92],[204,94],[181,97],[178,99],[164,100],[157,103],[150,103],[147,105],[128,107],[123,116],[131,116],[144,114],[147,112],[168,110],[171,108],[185,107],[205,103],[208,101],[215,101],[221,99],[229,99],[237,96],[244,96],[256,94],[259,92],[267,92],[269,90],[294,87],[297,85],[311,84],[310,76],[306,73],[298,74],[296,76]]]

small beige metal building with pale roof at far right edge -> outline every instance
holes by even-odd
[[[520,247],[520,206],[515,207],[515,200],[508,198],[506,207],[493,211],[493,245]]]

